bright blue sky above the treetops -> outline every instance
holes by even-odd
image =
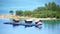
[[[45,3],[55,2],[60,5],[60,0],[0,0],[0,13],[8,13],[9,10],[33,10],[44,6]]]

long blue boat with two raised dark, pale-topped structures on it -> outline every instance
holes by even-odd
[[[13,19],[12,22],[5,22],[4,24],[10,24],[10,25],[13,25],[13,27],[20,25],[20,26],[25,26],[25,28],[26,27],[32,27],[32,26],[40,28],[41,25],[42,25],[41,23],[39,23],[39,24],[36,24],[36,23],[33,24],[32,22],[33,22],[32,20],[25,20],[25,23],[20,23],[19,20]]]

